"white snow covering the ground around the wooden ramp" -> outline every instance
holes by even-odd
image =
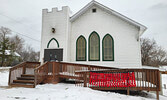
[[[167,78],[167,76],[163,76]],[[0,70],[0,100],[152,100],[154,93],[146,97],[127,96],[115,92],[102,92],[90,88],[76,87],[74,84],[44,84],[36,88],[7,88],[8,70]],[[164,82],[163,82],[164,83]],[[167,83],[166,83],[167,84]],[[160,96],[160,100],[167,100]]]

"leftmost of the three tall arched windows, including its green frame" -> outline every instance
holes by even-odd
[[[76,60],[86,61],[86,39],[80,36],[76,42]]]

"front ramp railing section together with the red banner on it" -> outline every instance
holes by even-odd
[[[90,82],[90,75],[91,73],[97,73],[95,77],[95,82],[97,83],[96,85],[92,85]],[[114,69],[114,70],[105,70],[105,71],[87,71],[87,72],[76,72],[76,74],[80,76],[84,76],[85,80],[83,83],[78,83],[76,85],[78,86],[86,86],[86,87],[91,87],[91,88],[104,88],[104,89],[127,89],[127,87],[119,86],[119,83],[121,84],[123,79],[127,79],[125,84],[128,84],[129,81],[128,77],[126,77],[126,74],[133,73],[134,79],[133,81],[135,82],[135,85],[132,87],[129,87],[131,90],[147,90],[147,91],[159,91],[160,90],[160,77],[159,77],[159,70],[155,69]],[[86,74],[86,75],[85,75]],[[122,75],[121,75],[122,74]],[[123,76],[124,75],[124,76]],[[110,78],[116,77],[115,80],[110,80]],[[92,77],[91,77],[92,78]],[[103,80],[106,79],[106,80]],[[86,81],[87,80],[87,81]],[[118,85],[108,85],[106,82],[109,82],[112,84],[118,84]],[[85,83],[86,82],[86,83]],[[108,83],[108,84],[110,84]],[[85,85],[84,85],[85,84]]]

